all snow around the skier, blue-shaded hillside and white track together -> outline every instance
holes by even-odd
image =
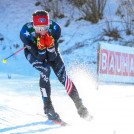
[[[2,63],[5,57],[23,47],[19,38],[20,29],[32,20],[31,14],[35,10],[42,9],[35,6],[35,2],[36,0],[0,1],[0,37],[4,37],[4,41],[0,42],[0,133],[133,134],[133,85],[100,83],[98,86],[96,83],[96,52],[99,42],[93,41],[98,39],[106,27],[105,19],[100,20],[98,24],[91,24],[72,18],[69,27],[64,27],[67,18],[57,19],[62,28],[61,39],[64,40],[59,45],[60,52],[83,103],[94,116],[90,122],[79,118],[73,102],[52,72],[54,107],[61,118],[70,125],[60,127],[48,123],[43,117],[39,73],[25,60],[23,51],[8,59],[6,64]],[[105,16],[117,20],[114,16],[115,8],[117,3],[110,1],[105,9]],[[78,17],[78,14],[75,17]],[[86,45],[78,49],[75,45],[78,42]],[[18,49],[14,47],[15,44],[19,44]],[[63,54],[72,47],[77,49]]]

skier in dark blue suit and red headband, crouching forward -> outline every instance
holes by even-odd
[[[28,22],[22,27],[20,38],[26,46],[24,50],[26,59],[40,72],[39,86],[45,114],[49,120],[60,120],[60,116],[55,112],[51,102],[49,79],[51,67],[59,81],[65,86],[80,117],[87,118],[89,116],[88,110],[83,105],[74,83],[68,77],[58,51],[58,39],[61,35],[60,26],[53,20],[49,20],[49,14],[45,10],[35,11],[32,17],[33,22]]]

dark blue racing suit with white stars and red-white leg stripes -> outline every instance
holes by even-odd
[[[53,69],[59,81],[65,86],[65,89],[71,99],[74,101],[77,110],[82,105],[77,89],[71,79],[68,77],[64,62],[58,51],[58,39],[61,35],[60,26],[49,20],[49,34],[54,38],[54,47],[51,49],[40,50],[37,47],[37,34],[33,28],[33,22],[26,23],[21,31],[20,38],[26,46],[24,50],[25,57],[29,63],[40,72],[39,86],[42,94],[42,99],[45,104],[45,99],[51,96],[50,86],[50,67]],[[79,112],[78,112],[79,113]]]

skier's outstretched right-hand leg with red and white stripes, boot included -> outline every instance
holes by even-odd
[[[58,53],[55,61],[50,62],[50,64],[51,64],[56,76],[58,77],[59,81],[65,86],[65,89],[66,89],[68,95],[71,97],[71,99],[75,103],[75,106],[78,110],[79,115],[83,118],[87,117],[88,110],[83,105],[74,83],[71,81],[71,79],[66,74],[64,62],[59,53]]]

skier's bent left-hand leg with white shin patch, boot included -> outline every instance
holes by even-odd
[[[48,119],[59,119],[59,115],[55,112],[51,102],[51,87],[50,87],[50,66],[45,62],[39,62],[32,54],[26,54],[27,60],[32,66],[40,72],[40,91],[44,102],[44,112],[47,114]]]

